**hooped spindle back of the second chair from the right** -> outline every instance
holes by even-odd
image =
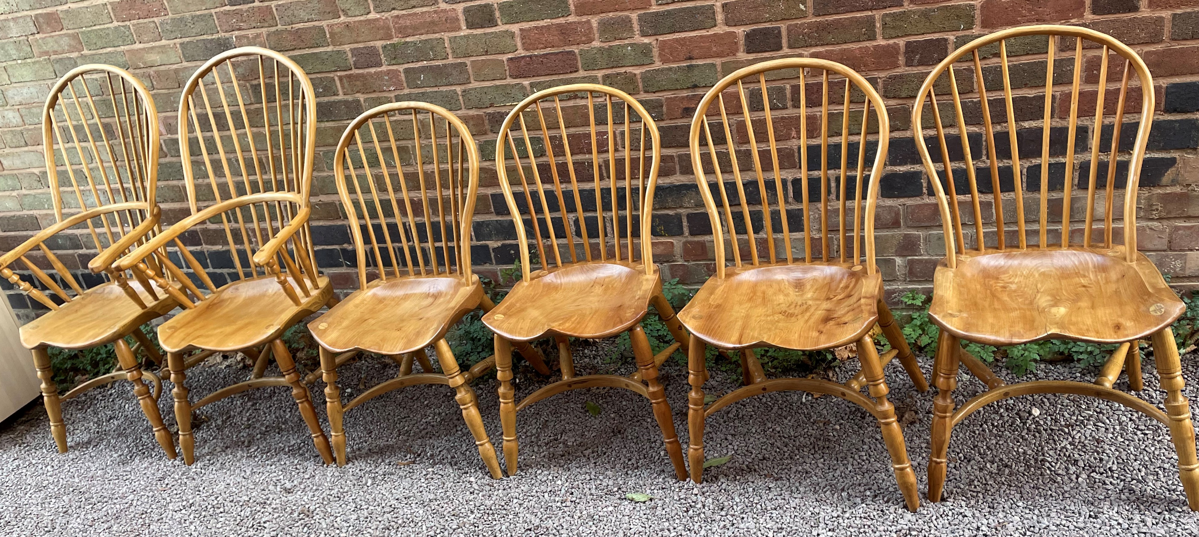
[[[791,101],[800,103],[800,114],[797,117],[788,115],[776,115],[772,114],[771,108],[785,108],[785,88],[783,89],[783,103],[771,103],[770,89],[767,88],[767,73],[781,72],[783,70],[796,70],[795,72],[776,73],[772,79],[779,78],[799,78],[799,84],[791,88]],[[820,191],[820,234],[817,235],[820,240],[820,255],[817,260],[818,263],[842,263],[851,265],[861,265],[863,263],[862,251],[860,245],[864,247],[864,265],[866,271],[869,274],[876,272],[874,263],[874,211],[878,198],[878,186],[879,179],[882,176],[884,162],[887,156],[887,145],[890,139],[891,122],[887,116],[886,107],[882,104],[882,98],[879,96],[878,91],[874,90],[870,84],[862,78],[862,76],[854,72],[854,70],[829,60],[818,60],[812,58],[787,58],[781,60],[770,60],[761,64],[755,64],[748,67],[740,68],[729,73],[727,77],[721,79],[707,93],[700,99],[699,105],[695,108],[695,115],[692,117],[691,122],[691,159],[692,168],[695,170],[695,181],[699,185],[700,197],[704,199],[704,206],[707,209],[707,216],[712,227],[713,246],[716,249],[716,276],[718,278],[724,277],[724,267],[728,264],[725,257],[725,243],[724,234],[728,229],[729,242],[733,249],[733,261],[734,266],[742,266],[741,245],[737,241],[739,231],[736,229],[735,217],[740,217],[740,222],[745,228],[745,234],[747,235],[747,251],[749,257],[749,263],[753,266],[758,266],[767,263],[759,254],[759,237],[754,231],[753,217],[751,215],[748,205],[754,201],[751,195],[746,194],[746,185],[753,186],[748,180],[742,182],[742,167],[739,164],[739,159],[745,159],[746,157],[737,156],[737,145],[745,144],[740,147],[742,151],[749,155],[753,163],[753,174],[757,179],[758,187],[758,203],[760,204],[759,216],[761,217],[761,228],[764,230],[764,242],[766,246],[769,263],[776,264],[781,263],[778,253],[776,252],[775,245],[775,224],[772,223],[775,213],[771,212],[771,200],[769,199],[767,189],[775,187],[775,203],[777,205],[778,221],[781,222],[783,245],[785,248],[785,263],[797,263],[794,258],[791,248],[791,223],[789,222],[789,213],[787,209],[787,194],[785,194],[785,181],[782,177],[782,170],[779,169],[779,153],[778,144],[776,140],[776,120],[788,121],[794,120],[797,126],[789,127],[793,131],[797,131],[799,134],[795,138],[800,139],[800,180],[795,181],[799,187],[793,187],[800,192],[793,192],[793,195],[799,199],[802,204],[802,227],[803,227],[803,245],[805,253],[802,263],[814,263],[815,255],[812,253],[812,237],[813,233],[813,215],[809,210],[809,201],[812,193],[809,192],[808,177],[809,163],[808,163],[808,117],[807,109],[808,95],[807,85],[808,83],[808,71],[813,73],[819,72],[820,74],[820,119],[819,121],[819,133],[820,133],[820,177],[819,177],[819,191]],[[844,91],[839,95],[842,103],[844,105],[840,110],[840,168],[837,180],[840,185],[839,189],[836,192],[837,200],[839,201],[839,216],[838,216],[838,254],[837,258],[830,255],[830,242],[832,241],[832,233],[830,229],[831,222],[829,218],[829,187],[830,187],[830,164],[829,164],[829,138],[830,138],[830,91],[835,89],[829,82],[829,76],[835,74],[844,78]],[[760,92],[760,102],[747,96],[747,90],[742,84],[743,79],[751,79],[757,88],[751,86],[749,93],[754,91]],[[836,84],[836,82],[835,82]],[[733,105],[735,109],[731,113],[727,109],[728,104],[724,102],[725,98],[722,95],[724,90],[736,86],[736,92],[734,97],[737,102]],[[777,86],[776,86],[777,88]],[[861,95],[854,95],[851,90],[856,89]],[[860,109],[851,108],[851,104],[856,101],[862,102]],[[710,114],[710,108],[716,104],[719,114],[716,120],[709,121],[705,117]],[[875,123],[869,122],[870,107],[874,108]],[[735,123],[730,122],[729,117],[733,113],[740,109],[741,117]],[[761,111],[763,115],[757,117],[761,123],[765,125],[765,129],[757,128],[754,126],[754,117],[751,111]],[[860,115],[858,115],[860,114]],[[850,127],[851,116],[856,116],[860,120],[858,132],[854,132]],[[836,127],[836,126],[835,126]],[[864,168],[868,153],[868,141],[869,134],[873,128],[878,129],[878,140],[875,146],[875,155],[873,163],[867,171]],[[763,135],[765,134],[765,135]],[[852,151],[849,144],[850,138],[856,137],[858,139],[858,145],[856,151]],[[760,147],[760,141],[769,144],[765,150]],[[719,156],[719,150],[717,143],[723,139],[727,147],[728,167],[733,174],[733,182],[735,187],[735,201],[730,200],[729,188],[724,185],[724,175],[722,171],[722,157]],[[713,141],[715,140],[715,141]],[[701,150],[706,150],[710,161],[707,163],[709,169],[716,176],[716,191],[719,193],[719,204],[724,210],[724,218],[722,222],[721,211],[717,207],[717,200],[713,198],[712,186],[707,183],[707,173],[704,167],[704,158]],[[854,185],[854,191],[849,191],[848,174],[854,170],[849,167],[849,153],[856,152],[857,165],[856,175],[854,175],[856,183]],[[769,155],[769,157],[764,156]],[[769,168],[767,168],[769,167]],[[866,185],[866,199],[862,199],[862,176],[864,173],[869,173],[869,181]],[[767,177],[773,174],[773,185],[767,183]],[[849,198],[854,199],[854,205],[850,207],[846,201]],[[852,209],[852,215],[849,210]],[[863,211],[864,209],[864,211]],[[846,217],[852,218],[851,222],[846,224]],[[799,222],[796,222],[799,223]],[[864,225],[863,225],[864,224]],[[846,235],[850,231],[851,234]],[[864,231],[863,231],[864,228]],[[851,255],[849,255],[851,253]]]

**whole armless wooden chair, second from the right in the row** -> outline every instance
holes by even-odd
[[[794,115],[771,110],[770,95],[777,93],[777,89],[785,95],[787,86],[776,85],[772,91],[766,80],[787,78],[796,79],[797,85],[790,88],[795,93],[791,98],[802,103]],[[809,83],[815,84],[808,88]],[[858,93],[862,104],[855,105]],[[830,101],[837,98],[842,110],[839,121],[833,122],[831,117],[838,110]],[[787,102],[785,97],[782,99]],[[820,103],[819,116],[809,117],[808,104],[814,101]],[[870,111],[874,111],[873,121]],[[851,128],[851,121],[856,128]],[[839,131],[832,131],[838,122]],[[800,192],[791,195],[801,204],[789,209],[776,132],[788,129],[788,137],[799,138],[799,177],[807,179],[814,171],[809,169],[808,133],[817,126],[820,133],[819,179],[796,181]],[[878,132],[874,139],[869,135],[873,132]],[[903,333],[882,301],[882,276],[874,264],[874,210],[888,132],[886,108],[874,88],[849,67],[825,60],[796,58],[745,67],[724,77],[699,102],[691,123],[691,158],[712,227],[716,276],[679,313],[692,334],[687,458],[693,481],[700,482],[704,472],[705,418],[751,396],[803,390],[850,400],[879,420],[908,508],[915,511],[918,506],[916,477],[882,378],[882,366],[898,356],[916,387],[928,390]],[[833,187],[836,192],[832,192],[839,205],[836,222],[829,215],[831,135],[840,137],[840,169],[835,179],[839,187]],[[855,139],[854,145],[850,145],[851,139]],[[851,152],[856,153],[856,168],[849,167]],[[867,152],[874,153],[868,169]],[[715,185],[707,182],[709,174],[716,176]],[[863,174],[869,174],[868,182]],[[727,179],[731,181],[727,183]],[[813,188],[819,188],[819,198]],[[718,201],[713,199],[713,191],[719,193]],[[751,210],[751,205],[759,207]],[[814,219],[819,224],[813,223]],[[778,228],[782,228],[781,237],[776,235]],[[800,253],[793,248],[797,246],[793,242],[793,230],[803,233]],[[737,237],[742,234],[745,242]],[[733,266],[725,266],[727,246],[733,252]],[[830,253],[833,246],[836,254]],[[892,346],[881,357],[870,336],[875,325],[881,326]],[[754,348],[821,350],[851,343],[857,344],[862,369],[845,384],[819,379],[767,380],[752,351]],[[706,345],[740,351],[745,386],[705,408]],[[873,400],[861,393],[867,384]]]

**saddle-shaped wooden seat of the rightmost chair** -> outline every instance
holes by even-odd
[[[929,316],[987,345],[1040,339],[1123,343],[1170,326],[1186,304],[1140,252],[1125,248],[969,251],[941,264]],[[1000,304],[989,307],[987,304]]]

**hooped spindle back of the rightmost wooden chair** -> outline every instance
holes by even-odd
[[[1034,40],[1034,37],[1044,37],[1046,43],[1040,40]],[[984,47],[999,43],[998,50],[984,49]],[[1086,55],[1084,50],[1091,49],[1087,44],[1099,48],[1098,55]],[[1073,50],[1073,58],[1060,59],[1061,66],[1058,66],[1059,61],[1054,58],[1059,52]],[[1030,61],[1022,64],[1010,64],[1008,56],[1011,55],[1025,55],[1025,54],[1037,54]],[[1121,67],[1110,66],[1109,58],[1115,54],[1122,58],[1123,66]],[[983,56],[998,55],[999,61],[996,62],[982,62]],[[971,64],[966,64],[965,67],[957,66],[956,70],[951,70],[956,62],[960,59],[969,56],[972,60]],[[1044,66],[1038,66],[1037,64],[1043,62]],[[1072,71],[1068,68],[1072,64]],[[1013,79],[1012,71],[1020,70],[1026,71],[1031,68],[1043,70],[1044,74],[1044,86],[1029,84],[1030,89],[1040,89],[1042,93],[1023,93],[1020,88],[1014,88],[1013,91]],[[958,73],[954,73],[958,71]],[[971,72],[972,71],[972,72]],[[1025,138],[1030,135],[1040,134],[1040,140],[1035,145],[1040,150],[1040,163],[1030,165],[1028,169],[1028,181],[1029,187],[1032,187],[1032,181],[1036,180],[1040,187],[1040,221],[1038,221],[1038,248],[1049,248],[1050,241],[1048,237],[1049,227],[1049,192],[1050,192],[1050,175],[1055,169],[1062,169],[1062,217],[1061,217],[1061,240],[1058,247],[1070,248],[1072,247],[1071,237],[1071,191],[1076,185],[1073,179],[1073,173],[1076,167],[1079,173],[1077,180],[1077,187],[1086,188],[1086,215],[1085,224],[1083,228],[1081,241],[1074,240],[1073,246],[1080,246],[1084,248],[1090,248],[1092,245],[1098,246],[1101,241],[1096,239],[1092,241],[1092,227],[1096,219],[1096,192],[1097,192],[1097,179],[1099,174],[1103,175],[1103,181],[1105,185],[1104,195],[1104,210],[1103,210],[1103,240],[1102,247],[1113,248],[1113,210],[1114,210],[1114,188],[1116,183],[1117,175],[1117,156],[1121,145],[1121,128],[1123,127],[1123,115],[1127,104],[1132,104],[1129,101],[1134,98],[1128,91],[1128,80],[1132,72],[1135,71],[1137,79],[1139,80],[1139,88],[1134,90],[1140,91],[1140,117],[1137,127],[1137,135],[1131,141],[1131,153],[1128,156],[1128,170],[1127,170],[1127,182],[1125,185],[1125,203],[1123,203],[1123,243],[1125,243],[1125,259],[1132,263],[1137,255],[1137,187],[1140,181],[1140,168],[1145,158],[1145,146],[1149,141],[1149,131],[1152,123],[1152,113],[1156,107],[1155,95],[1152,91],[1153,80],[1152,76],[1149,73],[1149,67],[1140,59],[1139,55],[1126,44],[1115,40],[1114,37],[1102,34],[1095,30],[1079,26],[1064,26],[1064,25],[1034,25],[1013,28],[1008,30],[998,31],[975,41],[971,41],[965,47],[962,47],[950,54],[944,61],[936,65],[924,84],[921,86],[920,92],[916,98],[916,104],[912,108],[912,126],[917,133],[916,149],[920,153],[921,161],[924,164],[924,169],[929,176],[929,182],[933,186],[933,191],[938,198],[938,205],[941,213],[941,225],[942,233],[945,234],[946,263],[948,266],[957,266],[957,255],[963,255],[966,252],[966,237],[963,231],[963,216],[960,215],[960,207],[958,203],[958,186],[956,185],[954,175],[964,173],[965,183],[969,188],[971,212],[975,224],[975,236],[974,236],[974,248],[977,252],[987,252],[987,237],[982,227],[984,215],[982,212],[982,206],[980,204],[980,183],[976,181],[975,162],[983,161],[989,168],[989,175],[992,177],[990,185],[983,183],[983,189],[990,188],[990,194],[993,197],[993,209],[994,219],[996,229],[993,233],[995,237],[995,249],[1005,251],[1011,248],[1011,239],[1005,236],[1005,231],[1008,230],[1008,224],[1004,219],[1004,197],[1001,192],[1011,189],[1014,192],[1014,198],[1012,201],[1016,204],[1016,239],[1019,249],[1025,249],[1029,247],[1028,237],[1025,235],[1025,212],[1024,212],[1024,185],[1023,176],[1020,173],[1020,152],[1022,143],[1019,141],[1022,131],[1025,132]],[[968,76],[966,76],[968,74]],[[974,134],[982,138],[982,145],[986,145],[986,152],[981,152],[978,158],[974,158],[971,155],[971,143],[970,127],[971,123],[966,122],[963,114],[963,98],[962,91],[959,90],[959,82],[963,76],[965,77],[966,84],[972,84],[972,88],[965,92],[972,92],[975,95],[988,96],[990,92],[1001,91],[1002,102],[1000,103],[1001,111],[992,114],[988,98],[977,98],[977,105],[981,108],[982,128],[981,132],[975,132]],[[1058,78],[1072,77],[1070,84],[1071,90],[1068,93],[1062,93],[1056,102],[1054,101],[1053,88],[1055,84],[1061,84],[1061,82],[1055,80]],[[1093,77],[1092,77],[1093,76]],[[958,161],[964,161],[964,170],[954,170],[952,165],[953,158],[951,153],[957,152],[954,147],[947,145],[946,132],[951,131],[950,125],[945,125],[939,111],[939,105],[936,102],[936,91],[946,91],[944,88],[939,86],[939,79],[941,77],[947,78],[948,84],[947,91],[951,92],[953,101],[952,127],[957,128],[958,135],[960,138],[959,149],[960,157],[956,158]],[[1103,123],[1104,108],[1110,105],[1107,101],[1110,101],[1113,95],[1108,90],[1109,78],[1120,78],[1119,93],[1115,96],[1115,122],[1110,125]],[[987,88],[988,79],[1001,79],[1002,88]],[[1081,84],[1093,84],[1096,89],[1080,90]],[[992,86],[1000,83],[992,82]],[[983,90],[980,92],[980,88]],[[1149,91],[1145,91],[1149,89]],[[1085,101],[1080,99],[1080,95]],[[1081,162],[1076,164],[1076,151],[1078,139],[1081,139],[1083,150],[1086,150],[1086,128],[1081,127],[1079,131],[1079,108],[1080,103],[1084,110],[1081,113],[1087,113],[1085,108],[1093,103],[1093,125],[1090,126],[1090,159],[1087,162]],[[1014,103],[1019,103],[1014,104]],[[1067,107],[1068,103],[1068,107]],[[945,173],[944,179],[939,177],[936,165],[926,143],[921,143],[923,138],[922,129],[927,126],[922,122],[924,121],[924,108],[929,107],[929,113],[933,116],[933,126],[936,131],[936,140],[940,150],[940,165]],[[1037,120],[1037,117],[1019,117],[1018,109],[1032,109],[1035,105],[1043,107],[1041,109],[1041,121],[1040,128],[1024,128],[1017,127],[1018,122]],[[1019,107],[1019,108],[1018,108]],[[996,127],[1006,127],[1007,144],[996,144],[996,138],[1004,138],[1005,133],[995,133],[992,128],[993,116],[998,116],[1001,120],[1006,115],[1006,123],[996,125]],[[1067,115],[1067,120],[1058,121],[1058,123],[1065,122],[1065,125],[1055,126],[1054,116]],[[964,127],[963,127],[964,126]],[[1107,128],[1110,127],[1110,131]],[[1040,131],[1040,133],[1034,132]],[[1125,129],[1127,132],[1127,129]],[[1065,150],[1058,147],[1054,149],[1052,141],[1066,138]],[[1110,152],[1108,153],[1108,162],[1104,165],[1099,164],[1101,149],[1107,145],[1105,140],[1110,138]],[[927,141],[927,144],[933,144],[933,141]],[[977,145],[977,144],[976,144]],[[1004,146],[1007,146],[1007,153],[1002,153]],[[1123,145],[1129,145],[1125,140]],[[1058,157],[1052,159],[1050,157]],[[1065,157],[1065,158],[1062,158]],[[1058,159],[1064,159],[1065,162],[1053,162]],[[1011,174],[1011,188],[1005,188],[1002,175],[1001,175],[1001,161],[1007,161],[1007,168]],[[1040,167],[1040,173],[1034,173],[1034,169]],[[982,167],[980,167],[982,170]],[[981,173],[981,171],[980,171]],[[1085,174],[1085,175],[1084,175]],[[944,182],[944,185],[942,185]],[[986,192],[983,192],[986,193]],[[964,195],[964,194],[963,194]],[[950,200],[953,200],[951,204]],[[956,255],[957,254],[957,255]]]

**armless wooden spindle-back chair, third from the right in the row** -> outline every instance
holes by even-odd
[[[483,315],[483,322],[495,332],[504,458],[510,476],[517,471],[518,410],[570,390],[605,386],[650,399],[675,473],[687,478],[670,405],[657,379],[658,366],[687,344],[674,309],[662,295],[650,247],[661,146],[657,126],[640,103],[596,84],[538,91],[504,120],[495,167],[506,205],[494,209],[512,215],[522,279]],[[519,192],[513,192],[513,181],[519,181]],[[588,215],[591,212],[595,215]],[[530,239],[536,260],[530,254]],[[540,270],[534,270],[534,264]],[[640,326],[651,302],[675,339],[657,355]],[[637,373],[574,375],[570,338],[598,339],[622,332],[632,340]],[[562,380],[514,404],[512,342],[544,337],[558,343]]]

